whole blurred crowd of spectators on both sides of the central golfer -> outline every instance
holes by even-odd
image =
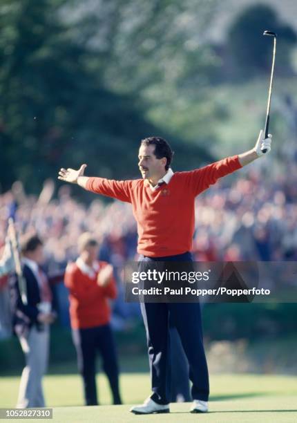
[[[273,166],[273,164],[271,164]],[[251,167],[222,179],[196,198],[193,252],[197,261],[287,261],[297,259],[297,164],[278,172]],[[277,174],[275,174],[277,173]],[[263,182],[265,180],[265,183]],[[136,260],[137,232],[131,205],[94,196],[79,203],[73,187],[55,191],[47,180],[39,197],[25,194],[21,182],[0,195],[0,246],[7,220],[15,215],[19,232],[37,230],[46,241],[48,272],[63,269],[77,257],[77,238],[91,232],[100,258],[119,268]]]

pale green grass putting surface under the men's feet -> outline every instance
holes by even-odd
[[[210,413],[191,415],[189,404],[172,404],[170,415],[135,416],[128,404],[137,404],[150,393],[147,373],[123,373],[123,406],[110,406],[106,379],[98,375],[101,406],[83,405],[78,375],[47,375],[44,391],[47,406],[54,408],[54,422],[296,422],[297,377],[276,375],[211,375]],[[2,377],[0,407],[15,406],[19,377]]]

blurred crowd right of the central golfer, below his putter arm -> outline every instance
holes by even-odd
[[[261,163],[260,163],[261,165]],[[297,165],[251,167],[196,199],[197,261],[297,259]]]

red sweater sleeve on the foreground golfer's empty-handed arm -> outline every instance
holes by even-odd
[[[86,189],[131,203],[131,180],[112,180],[106,178],[88,178]]]

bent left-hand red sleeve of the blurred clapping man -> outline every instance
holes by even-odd
[[[79,280],[79,275],[80,272],[75,269],[74,265],[68,265],[64,278],[65,286],[70,291],[70,294],[77,298],[81,304],[91,303],[97,299],[100,292],[102,292],[102,288],[94,281],[94,284],[86,289]]]

